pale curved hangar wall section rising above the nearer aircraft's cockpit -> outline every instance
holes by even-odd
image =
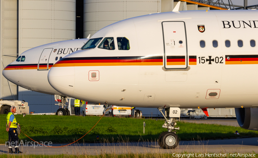
[[[161,12],[161,0],[84,0],[84,38],[120,20]]]

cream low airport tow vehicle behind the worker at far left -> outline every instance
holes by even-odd
[[[10,112],[10,107],[15,106],[17,109],[17,114],[29,113],[28,102],[19,100],[0,100],[0,114],[8,114]]]

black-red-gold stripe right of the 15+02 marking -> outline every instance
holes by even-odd
[[[258,64],[258,55],[226,55],[225,64]]]

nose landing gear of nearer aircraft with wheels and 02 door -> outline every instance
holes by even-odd
[[[158,109],[166,119],[166,123],[164,123],[162,128],[167,128],[166,132],[163,132],[159,135],[159,146],[164,149],[174,149],[177,147],[177,145],[179,145],[179,138],[176,135],[176,130],[179,130],[179,127],[175,127],[175,125],[177,125],[176,121],[178,120],[176,118],[180,117],[181,110],[178,107],[171,107],[170,113],[172,112],[172,114],[169,114],[170,119],[168,120],[161,111],[162,108]]]

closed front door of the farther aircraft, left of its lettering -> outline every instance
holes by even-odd
[[[48,70],[48,60],[53,48],[45,48],[38,61],[38,70]]]

